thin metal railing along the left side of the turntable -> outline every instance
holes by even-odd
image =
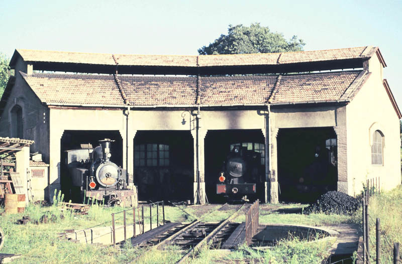
[[[147,207],[149,206],[149,216],[144,215],[144,206]],[[160,208],[161,207],[161,208]],[[141,209],[140,209],[141,208]],[[119,229],[124,229],[124,240],[127,239],[127,227],[128,226],[133,226],[133,237],[137,236],[137,228],[136,224],[139,225],[139,232],[138,234],[143,234],[145,232],[145,220],[149,218],[149,224],[150,224],[150,230],[152,230],[152,208],[156,209],[156,227],[159,225],[164,225],[165,224],[165,203],[164,201],[160,202],[155,202],[155,203],[150,203],[149,205],[142,205],[141,207],[133,207],[127,210],[123,210],[117,213],[112,213],[112,239],[113,239],[113,244],[116,244],[116,231]],[[136,213],[137,210],[137,213]],[[159,215],[160,211],[161,215]],[[120,214],[123,214],[123,226],[116,228],[116,218]],[[128,224],[127,223],[127,215],[132,214],[133,215],[133,222]],[[136,220],[136,215],[137,219]],[[131,217],[130,217],[131,219]],[[131,236],[130,236],[131,237]]]

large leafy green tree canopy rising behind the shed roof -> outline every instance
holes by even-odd
[[[286,40],[283,34],[272,33],[268,27],[255,23],[250,27],[229,25],[227,35],[222,34],[209,46],[198,49],[198,53],[212,55],[302,51],[304,45],[304,41],[297,36]]]

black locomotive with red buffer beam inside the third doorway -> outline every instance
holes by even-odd
[[[224,162],[217,184],[217,194],[241,198],[256,194],[261,177],[261,154],[235,146]]]

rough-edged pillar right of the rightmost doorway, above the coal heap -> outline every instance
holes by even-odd
[[[338,191],[348,193],[348,157],[346,125],[334,126],[338,151]]]

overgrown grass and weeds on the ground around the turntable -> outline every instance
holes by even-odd
[[[60,199],[60,198],[59,198]],[[375,218],[381,220],[382,263],[391,262],[392,243],[402,242],[402,186],[381,195],[374,195],[370,200],[369,212],[370,241],[372,262],[374,262],[375,248]],[[340,223],[361,224],[361,209],[353,216],[337,214],[300,214],[306,205],[260,205],[261,223],[284,223],[304,225],[337,225]],[[193,215],[209,214],[206,220],[218,222],[228,217],[232,211],[218,211],[220,205],[206,207],[180,207]],[[235,208],[236,206],[233,206]],[[0,208],[0,227],[5,232],[6,243],[2,249],[4,253],[22,254],[22,257],[13,263],[174,263],[181,258],[183,252],[174,246],[166,250],[144,251],[125,243],[122,248],[113,246],[103,247],[96,245],[72,243],[58,238],[58,233],[66,229],[83,229],[95,225],[107,226],[111,224],[111,213],[119,212],[121,207],[103,208],[92,205],[87,215],[75,215],[71,211],[61,210],[56,202],[53,206],[42,207],[30,205],[24,215],[30,217],[26,225],[17,224],[22,214],[4,214]],[[161,210],[161,209],[160,209]],[[166,220],[190,222],[194,219],[177,207],[165,206]],[[156,208],[152,208],[153,219],[156,222]],[[136,210],[137,213],[137,210]],[[149,206],[144,207],[145,216],[149,215]],[[43,215],[47,215],[48,222],[43,222]],[[122,222],[122,214],[116,215],[118,224]],[[129,219],[131,214],[127,215]],[[132,216],[131,216],[132,217]],[[132,218],[131,218],[132,219]],[[130,221],[130,220],[128,220]],[[145,218],[146,223],[149,219]],[[240,214],[236,221],[244,221]],[[334,242],[333,238],[317,241],[299,241],[297,238],[281,241],[277,246],[267,250],[255,250],[247,246],[240,246],[238,250],[223,254],[221,251],[210,250],[204,246],[197,250],[188,263],[320,263],[328,256],[328,249]]]

